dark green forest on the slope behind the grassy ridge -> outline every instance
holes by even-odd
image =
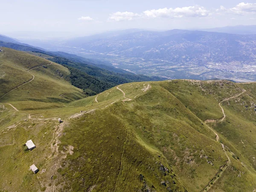
[[[71,74],[68,80],[76,87],[83,89],[88,96],[92,96],[119,84],[135,81],[160,81],[160,77],[144,75],[114,73],[93,65],[77,63],[66,58],[54,57],[50,61],[67,67]]]

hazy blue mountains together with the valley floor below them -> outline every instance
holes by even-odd
[[[128,29],[42,45],[147,76],[256,81],[256,26],[164,32]]]

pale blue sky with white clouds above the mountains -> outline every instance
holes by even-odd
[[[120,29],[256,25],[256,0],[0,0],[0,34],[75,37]]]

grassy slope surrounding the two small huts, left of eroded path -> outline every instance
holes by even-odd
[[[16,128],[6,133],[1,133],[0,142],[0,189],[8,191],[38,191],[41,183],[50,178],[50,170],[44,175],[44,179],[38,179],[29,170],[29,166],[35,163],[39,170],[46,169],[47,164],[53,163],[50,149],[50,141],[53,138],[53,122],[38,123],[19,122]],[[6,130],[5,130],[6,131]],[[32,139],[36,148],[32,151],[24,151],[23,144]],[[48,179],[50,180],[50,179]]]

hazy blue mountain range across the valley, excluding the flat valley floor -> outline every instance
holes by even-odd
[[[140,31],[105,38],[76,38],[70,47],[120,57],[163,59],[173,63],[252,62],[256,35],[171,30]],[[206,58],[206,59],[204,59]],[[231,58],[231,59],[230,59]]]

